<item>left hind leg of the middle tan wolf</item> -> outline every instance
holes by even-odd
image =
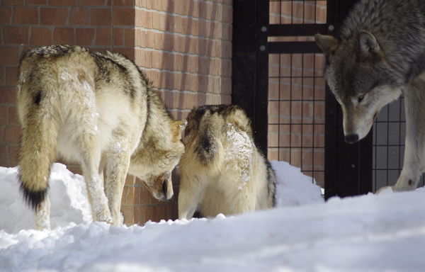
[[[196,206],[202,198],[203,184],[201,178],[185,173],[181,169],[179,188],[179,219],[191,219]]]

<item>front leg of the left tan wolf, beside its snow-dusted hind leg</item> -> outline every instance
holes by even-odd
[[[108,196],[109,209],[111,210],[112,224],[120,224],[121,198],[128,166],[130,165],[130,147],[128,140],[120,140],[113,144],[112,152],[108,157],[106,167],[106,196]]]

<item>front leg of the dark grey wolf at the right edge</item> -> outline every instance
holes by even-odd
[[[425,166],[425,80],[418,77],[404,91],[406,147],[402,174],[393,191],[416,189]]]

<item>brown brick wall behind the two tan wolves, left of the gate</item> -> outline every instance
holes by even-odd
[[[18,162],[19,56],[40,45],[123,52],[179,120],[194,106],[231,103],[232,0],[1,0],[0,26],[0,166]],[[77,165],[68,168],[81,173]],[[175,219],[178,170],[173,179],[174,202],[162,203],[128,176],[125,223]]]

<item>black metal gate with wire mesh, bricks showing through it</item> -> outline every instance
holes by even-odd
[[[372,133],[344,142],[341,109],[312,38],[335,33],[354,2],[233,2],[232,101],[252,118],[268,159],[299,167],[324,186],[325,198],[372,191]]]

